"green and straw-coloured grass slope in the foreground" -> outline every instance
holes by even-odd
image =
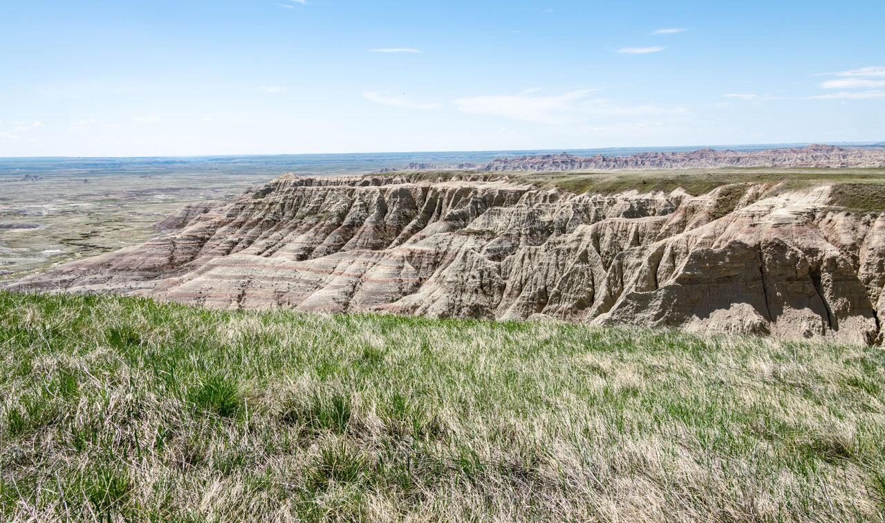
[[[883,521],[879,348],[0,294],[0,520]]]

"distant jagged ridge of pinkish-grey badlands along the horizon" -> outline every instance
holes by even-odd
[[[642,152],[632,156],[566,154],[496,158],[481,171],[608,171],[613,169],[688,169],[716,167],[883,167],[885,149],[809,145],[801,149]]]

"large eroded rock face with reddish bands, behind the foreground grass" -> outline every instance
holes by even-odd
[[[834,209],[829,192],[575,196],[506,179],[284,175],[12,288],[881,342],[885,213]]]

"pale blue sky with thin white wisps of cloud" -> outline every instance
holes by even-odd
[[[0,2],[0,156],[885,140],[885,3]]]

